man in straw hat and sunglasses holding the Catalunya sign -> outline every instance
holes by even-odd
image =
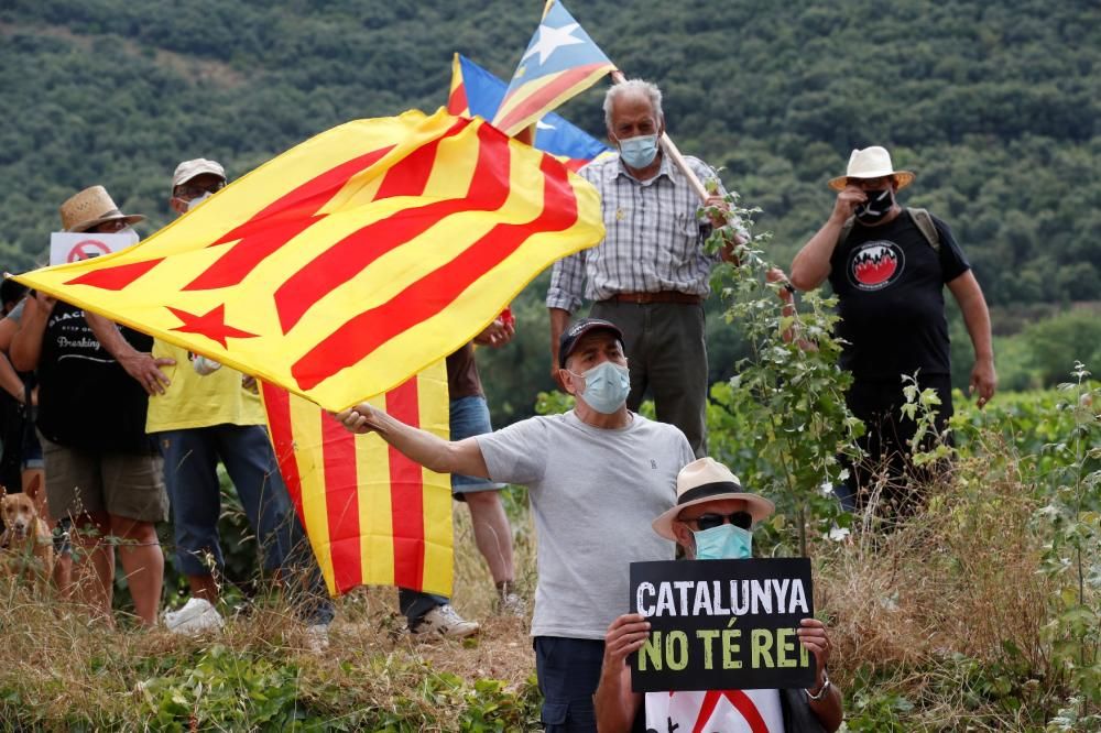
[[[662,537],[676,540],[688,560],[750,559],[752,527],[772,514],[774,508],[768,500],[742,492],[738,478],[726,466],[711,458],[701,458],[682,469],[677,477],[677,503],[654,519],[653,527]],[[711,582],[716,589],[720,588],[720,582]],[[687,588],[689,582],[672,584],[680,590]],[[731,581],[730,586],[733,589],[734,582]],[[653,590],[652,584],[643,583],[639,598],[653,599],[653,594],[643,592],[643,587]],[[674,602],[667,604],[666,611],[675,615],[678,609],[688,605],[687,601],[676,602],[685,595],[691,597],[691,593],[685,590],[674,593]],[[711,598],[710,608],[721,606],[718,592]],[[733,592],[728,600],[730,608],[722,610],[729,613],[735,605]],[[754,602],[756,600],[754,598]],[[647,605],[645,610],[650,612],[662,609],[661,601],[656,605]],[[699,608],[698,594],[696,608]],[[738,616],[731,614],[728,626],[733,626],[737,620]],[[640,613],[623,614],[612,622],[604,636],[603,668],[595,696],[597,729],[600,733],[643,730],[657,733],[702,730],[728,733],[836,731],[842,719],[841,694],[830,683],[826,672],[830,653],[826,626],[816,619],[805,617],[795,634],[815,657],[815,685],[810,689],[641,693],[632,691],[628,656],[642,653],[651,637],[651,622]],[[775,652],[777,656],[781,654],[778,645]]]

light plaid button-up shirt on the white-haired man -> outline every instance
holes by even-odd
[[[700,180],[718,182],[709,165],[685,158]],[[579,173],[600,192],[604,241],[555,263],[548,308],[576,310],[582,285],[590,300],[662,291],[707,297],[711,267],[718,261],[718,255],[702,249],[711,225],[699,214],[699,197],[667,155],[662,156],[657,175],[645,182],[632,177],[618,155],[590,163]]]

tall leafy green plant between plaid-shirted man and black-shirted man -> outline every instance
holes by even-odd
[[[728,196],[733,211],[749,220],[756,210],[739,208],[738,196]],[[712,245],[732,236],[712,234]],[[832,522],[837,503],[819,491],[842,479],[839,452],[855,450],[862,430],[844,402],[851,375],[837,363],[841,344],[833,338],[832,298],[808,293],[803,313],[787,313],[780,283],[767,284],[771,263],[760,249],[768,234],[757,234],[734,248],[737,265],[723,265],[715,282],[721,284],[728,322],[738,324],[751,357],[734,365],[734,376],[711,390],[710,450],[741,475],[745,485],[777,497],[780,511],[794,519],[799,551],[806,554],[809,517]]]

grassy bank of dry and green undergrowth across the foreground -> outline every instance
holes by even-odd
[[[960,458],[933,482],[924,512],[890,533],[864,532],[859,516],[843,540],[811,533],[816,608],[832,630],[830,675],[848,730],[1098,730],[1090,479],[1101,442],[1093,396],[1082,395],[1095,392],[1083,384],[999,395],[981,414],[962,408]],[[506,504],[530,590],[522,496]],[[77,609],[3,587],[0,730],[536,729],[526,626],[491,617],[492,586],[461,507],[456,524],[455,602],[486,622],[466,645],[414,643],[383,589],[341,600],[333,646],[316,655],[279,599],[260,599],[217,637],[182,639],[89,627]],[[770,527],[762,549],[791,547],[791,532]]]

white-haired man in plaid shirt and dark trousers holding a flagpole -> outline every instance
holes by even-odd
[[[580,175],[600,192],[604,241],[555,263],[547,292],[552,373],[558,378],[558,339],[584,296],[591,316],[620,327],[631,369],[628,408],[636,411],[650,387],[657,419],[676,425],[697,457],[707,455],[707,347],[704,299],[719,255],[704,252],[712,225],[685,175],[662,153],[662,92],[631,79],[604,97],[608,139],[618,156],[595,161]],[[718,176],[686,156],[701,180]],[[722,194],[721,186],[718,189]],[[708,206],[726,208],[721,196]],[[731,259],[733,245],[721,256]],[[586,282],[587,281],[587,282]]]

